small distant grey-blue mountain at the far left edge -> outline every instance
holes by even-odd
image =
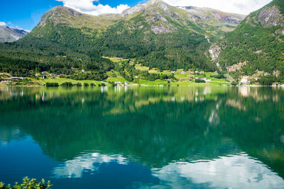
[[[23,38],[28,32],[9,28],[6,25],[0,25],[0,42],[13,42]]]

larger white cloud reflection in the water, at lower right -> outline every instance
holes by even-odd
[[[186,179],[208,183],[208,188],[284,188],[283,178],[247,154],[210,161],[175,162],[153,172],[161,181],[170,181],[172,187],[184,187]]]

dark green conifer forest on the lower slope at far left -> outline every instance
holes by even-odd
[[[62,31],[69,30],[70,28],[65,28]],[[47,38],[27,35],[18,42],[0,44],[0,71],[15,76],[28,76],[39,71],[72,75],[75,74],[74,69],[84,69],[92,71],[92,76],[88,79],[101,80],[101,77],[105,77],[102,74],[114,69],[113,62],[102,58],[94,48],[89,48],[84,36],[76,38],[76,32],[73,34],[74,38],[63,42],[60,42],[62,38],[57,38],[56,33],[51,32],[51,35],[46,35]],[[76,39],[80,41],[77,42],[77,47],[74,46]],[[81,42],[86,42],[86,45]]]

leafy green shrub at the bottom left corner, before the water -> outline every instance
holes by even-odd
[[[0,183],[1,189],[45,189],[50,187],[50,181],[48,181],[48,183],[45,183],[45,180],[42,179],[41,182],[38,182],[35,178],[29,179],[28,177],[23,178],[23,183],[15,183],[15,185],[13,185],[12,187],[11,185],[5,185],[4,183]]]

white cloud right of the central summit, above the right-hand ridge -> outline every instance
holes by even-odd
[[[230,13],[249,14],[272,0],[164,0],[173,6],[199,6]]]

